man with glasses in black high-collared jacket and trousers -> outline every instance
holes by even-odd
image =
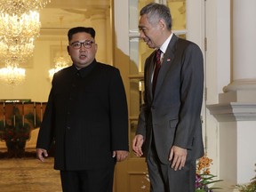
[[[54,147],[54,169],[64,192],[111,192],[116,161],[128,156],[128,112],[119,70],[95,60],[93,28],[68,31],[73,65],[52,79],[36,144],[44,162]]]

